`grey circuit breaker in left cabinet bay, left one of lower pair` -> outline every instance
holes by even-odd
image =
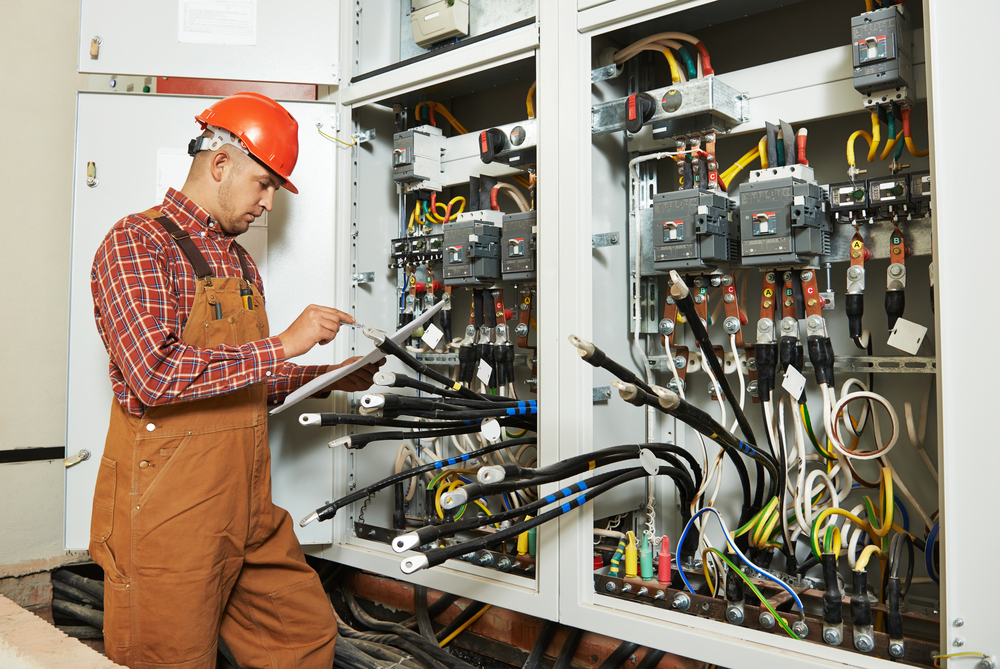
[[[467,211],[444,224],[444,283],[484,286],[500,280],[502,211]]]

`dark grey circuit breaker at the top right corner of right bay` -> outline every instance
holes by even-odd
[[[851,19],[854,88],[864,95],[913,85],[913,29],[903,5]]]

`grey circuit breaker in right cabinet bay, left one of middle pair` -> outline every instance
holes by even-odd
[[[653,196],[653,268],[713,270],[738,258],[733,201],[690,189]]]

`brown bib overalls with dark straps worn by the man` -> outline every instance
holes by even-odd
[[[198,277],[183,340],[212,348],[266,338],[242,250],[242,279],[213,277],[186,232],[147,214],[160,217]],[[112,402],[90,530],[90,554],[105,572],[109,659],[212,669],[221,634],[244,669],[333,666],[332,607],[288,512],[271,503],[266,400],[260,383],[147,407],[142,418]]]

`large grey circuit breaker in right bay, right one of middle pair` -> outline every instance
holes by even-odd
[[[808,166],[752,172],[740,185],[739,216],[744,265],[802,266],[830,253],[826,190]]]

